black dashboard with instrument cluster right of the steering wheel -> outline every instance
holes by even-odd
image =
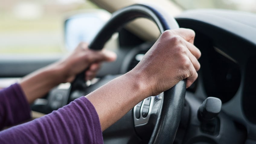
[[[220,98],[222,110],[246,127],[248,139],[255,140],[256,16],[228,10],[194,10],[176,20],[180,27],[195,30],[195,45],[202,52],[195,95]]]

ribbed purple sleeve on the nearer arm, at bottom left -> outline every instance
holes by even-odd
[[[44,117],[0,132],[0,143],[103,143],[98,114],[79,98]]]

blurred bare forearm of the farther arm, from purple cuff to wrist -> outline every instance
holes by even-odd
[[[52,64],[25,76],[20,85],[27,101],[32,103],[35,99],[42,97],[61,83],[62,78],[59,72],[60,68],[56,64]]]

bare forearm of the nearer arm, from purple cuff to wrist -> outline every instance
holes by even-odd
[[[150,96],[142,79],[128,72],[86,96],[98,113],[102,131]]]

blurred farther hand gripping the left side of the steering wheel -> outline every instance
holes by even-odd
[[[88,44],[82,42],[71,55],[57,62],[56,66],[60,67],[63,82],[72,82],[75,76],[85,69],[85,80],[91,80],[96,76],[101,62],[112,62],[116,57],[114,52],[108,50],[90,50]]]

